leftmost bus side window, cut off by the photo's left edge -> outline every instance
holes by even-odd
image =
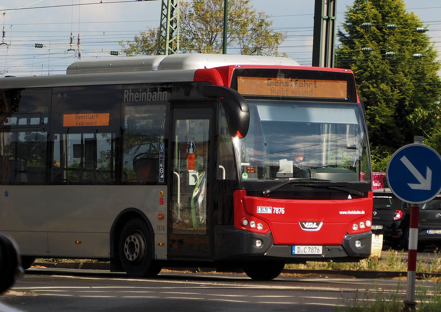
[[[0,184],[46,184],[50,92],[0,90]]]

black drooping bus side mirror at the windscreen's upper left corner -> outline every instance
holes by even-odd
[[[250,126],[250,109],[247,100],[239,92],[221,85],[206,85],[202,88],[202,95],[223,98],[222,106],[228,116],[230,134],[241,137],[247,135]]]

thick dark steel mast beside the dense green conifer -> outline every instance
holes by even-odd
[[[334,67],[337,0],[315,0],[312,66]]]

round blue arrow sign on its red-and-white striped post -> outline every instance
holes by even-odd
[[[441,157],[431,147],[415,143],[401,147],[389,160],[386,176],[392,193],[411,205],[409,253],[407,259],[407,300],[403,311],[416,311],[415,275],[418,246],[419,205],[434,199],[441,191]]]

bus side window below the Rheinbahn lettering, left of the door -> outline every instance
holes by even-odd
[[[125,106],[123,183],[159,182],[160,161],[164,161],[159,153],[165,137],[165,113],[165,104]]]

